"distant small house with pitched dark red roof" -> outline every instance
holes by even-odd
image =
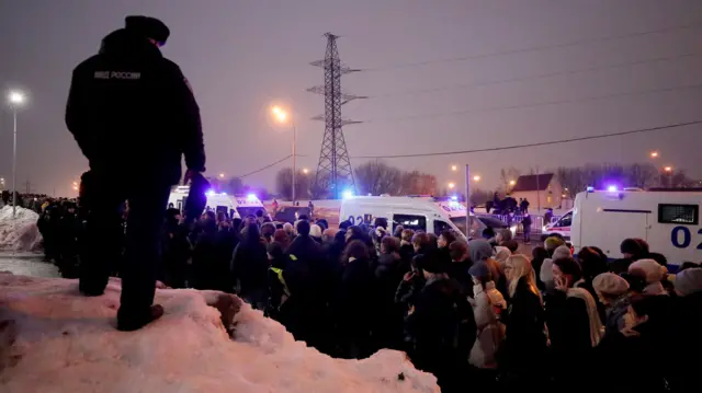
[[[517,178],[517,184],[511,189],[510,196],[517,199],[526,198],[529,210],[536,212],[539,207],[545,208],[570,208],[569,199],[564,197],[563,187],[553,173],[542,173],[539,175],[524,175]]]

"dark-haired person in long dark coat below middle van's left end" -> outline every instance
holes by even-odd
[[[344,267],[335,304],[341,356],[361,359],[372,354],[371,332],[377,302],[375,277],[369,247],[362,241],[351,241],[342,259]]]

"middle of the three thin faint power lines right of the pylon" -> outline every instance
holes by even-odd
[[[495,80],[495,81],[461,83],[461,84],[453,84],[453,85],[449,85],[449,86],[439,86],[439,88],[430,88],[430,89],[409,90],[409,91],[397,92],[397,93],[369,95],[369,99],[393,97],[393,96],[400,96],[400,95],[415,95],[415,94],[433,93],[433,92],[439,92],[439,91],[463,89],[463,88],[479,88],[479,86],[486,86],[486,85],[492,85],[492,84],[524,82],[524,81],[530,81],[530,80],[546,79],[546,78],[558,77],[558,76],[584,73],[584,72],[591,72],[591,71],[599,71],[599,70],[607,70],[607,69],[616,69],[616,68],[622,68],[622,67],[647,65],[647,63],[659,62],[659,61],[677,60],[677,59],[681,59],[681,58],[695,57],[695,56],[700,56],[700,55],[701,55],[701,53],[689,53],[689,54],[682,54],[682,55],[676,55],[676,56],[656,57],[656,58],[644,59],[644,60],[620,62],[620,63],[608,65],[608,66],[593,66],[593,67],[581,68],[581,69],[577,69],[577,70],[555,71],[555,72],[542,73],[542,74],[537,74],[537,76],[517,77],[517,78],[501,79],[501,80]]]

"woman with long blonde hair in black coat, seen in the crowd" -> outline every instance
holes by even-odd
[[[534,270],[525,256],[512,255],[505,263],[505,275],[509,282],[509,305],[500,319],[506,332],[498,352],[499,366],[520,385],[542,388],[546,334]]]

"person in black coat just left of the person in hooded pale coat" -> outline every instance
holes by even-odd
[[[415,367],[433,373],[442,392],[460,392],[476,326],[471,305],[458,284],[445,274],[446,264],[418,257],[427,285],[405,321],[412,338]]]

